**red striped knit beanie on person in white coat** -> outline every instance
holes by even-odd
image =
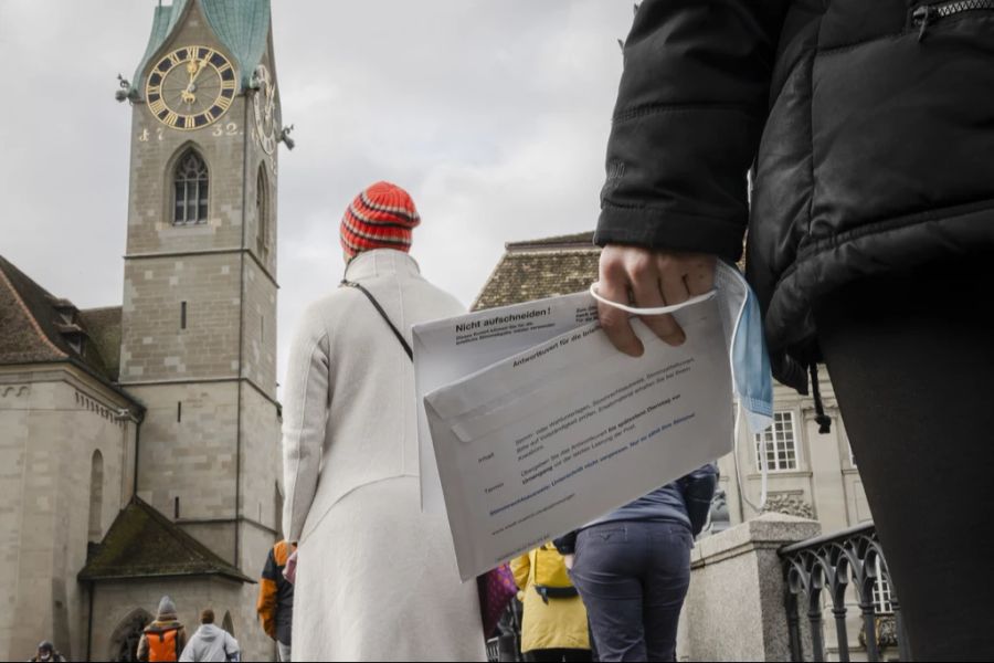
[[[390,182],[377,182],[356,197],[341,219],[341,248],[350,259],[372,249],[411,249],[411,231],[421,223],[411,196]]]

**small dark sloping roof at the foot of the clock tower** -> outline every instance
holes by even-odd
[[[117,515],[80,580],[223,576],[255,582],[138,497]]]

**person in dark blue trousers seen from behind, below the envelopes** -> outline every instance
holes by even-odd
[[[675,661],[690,548],[718,484],[710,463],[556,539],[600,661]]]

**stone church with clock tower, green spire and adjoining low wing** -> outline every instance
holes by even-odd
[[[126,657],[168,593],[191,632],[210,607],[243,659],[271,659],[253,580],[282,511],[268,0],[156,8],[118,98],[123,305],[76,311],[0,260],[0,657],[42,639]]]

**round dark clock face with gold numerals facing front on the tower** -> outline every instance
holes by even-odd
[[[224,55],[207,46],[183,46],[152,67],[145,99],[166,126],[199,129],[228,112],[236,87],[234,67]]]

